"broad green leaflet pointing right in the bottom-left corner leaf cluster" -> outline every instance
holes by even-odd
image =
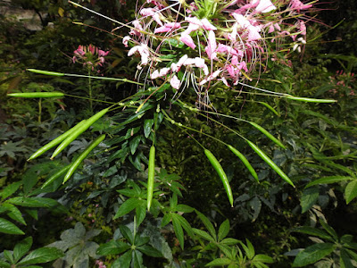
[[[41,247],[25,256],[19,264],[44,264],[64,256],[62,250],[55,247]]]

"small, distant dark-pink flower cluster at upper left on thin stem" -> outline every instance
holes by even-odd
[[[89,70],[95,71],[95,68],[98,66],[103,66],[103,63],[105,62],[104,57],[109,54],[109,51],[101,50],[93,45],[79,45],[73,54],[73,63],[82,63],[83,66],[87,66]]]

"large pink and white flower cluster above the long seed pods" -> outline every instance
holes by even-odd
[[[123,44],[131,43],[129,56],[140,56],[140,73],[148,67],[151,80],[181,90],[191,85],[201,96],[212,83],[229,88],[251,80],[259,63],[274,57],[269,39],[289,38],[290,48],[301,51],[300,17],[309,8],[300,0],[146,0]]]

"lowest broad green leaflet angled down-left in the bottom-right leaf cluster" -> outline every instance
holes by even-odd
[[[324,256],[331,254],[335,247],[332,243],[320,243],[306,247],[296,255],[293,267],[302,267],[308,264],[314,264]]]

